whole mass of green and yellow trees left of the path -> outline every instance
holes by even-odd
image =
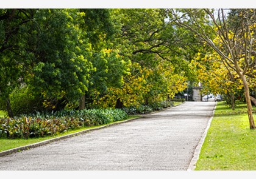
[[[166,23],[165,9],[2,9],[0,17],[0,109],[12,98],[14,115],[117,99],[159,110],[193,76],[185,44],[194,38]],[[29,93],[13,93],[24,84]]]

